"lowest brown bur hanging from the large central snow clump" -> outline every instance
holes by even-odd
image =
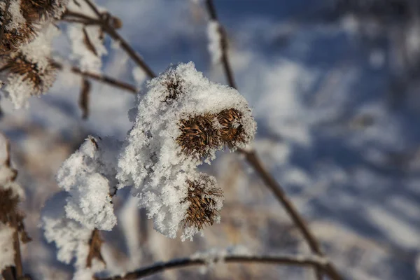
[[[218,200],[223,199],[223,190],[206,175],[187,183],[188,196],[184,202],[189,202],[190,206],[184,220],[185,226],[202,230],[204,225],[213,225],[218,217]]]

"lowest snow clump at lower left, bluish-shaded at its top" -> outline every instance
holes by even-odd
[[[41,213],[45,239],[48,242],[55,242],[57,259],[60,262],[70,264],[74,260],[76,268],[74,280],[91,280],[95,272],[104,269],[104,263],[95,258],[90,267],[87,265],[92,229],[66,218],[64,209],[69,199],[71,199],[69,193],[61,192],[46,202]]]

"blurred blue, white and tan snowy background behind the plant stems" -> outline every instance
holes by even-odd
[[[123,20],[127,41],[156,71],[195,62],[227,83],[212,62],[200,0],[97,0]],[[258,123],[253,147],[285,188],[325,252],[348,279],[418,279],[420,269],[420,1],[214,0],[229,39],[239,92]],[[71,44],[55,41],[57,55]],[[102,71],[141,85],[146,76],[109,39]],[[70,57],[71,59],[71,57]],[[52,90],[15,111],[1,99],[22,205],[34,239],[24,252],[35,279],[71,279],[38,228],[55,173],[88,134],[123,139],[134,95],[93,83],[90,116],[78,107],[80,77],[63,73]],[[279,202],[236,153],[203,166],[225,192],[221,223],[193,242],[152,228],[129,190],[115,200],[118,226],[103,232],[109,273],[196,251],[245,246],[251,253],[309,253]],[[218,265],[150,279],[313,279],[310,269]]]

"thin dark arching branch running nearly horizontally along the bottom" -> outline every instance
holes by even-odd
[[[270,256],[270,255],[226,255],[225,257],[215,257],[215,258],[179,258],[175,260],[170,260],[169,262],[157,262],[154,265],[143,267],[135,270],[134,272],[129,272],[124,276],[112,276],[109,278],[97,278],[97,280],[134,280],[141,279],[146,276],[151,276],[157,274],[167,269],[179,269],[183,267],[190,267],[193,265],[207,265],[209,262],[227,262],[227,263],[262,263],[262,264],[271,264],[271,265],[295,265],[300,267],[318,267],[325,266],[326,260],[324,258],[319,258],[317,256],[312,257],[303,257],[295,255],[279,255],[279,256]]]

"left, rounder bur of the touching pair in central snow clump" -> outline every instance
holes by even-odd
[[[214,126],[214,115],[211,113],[180,120],[179,130],[181,135],[176,141],[187,155],[207,158],[209,151],[220,146],[218,129]]]

